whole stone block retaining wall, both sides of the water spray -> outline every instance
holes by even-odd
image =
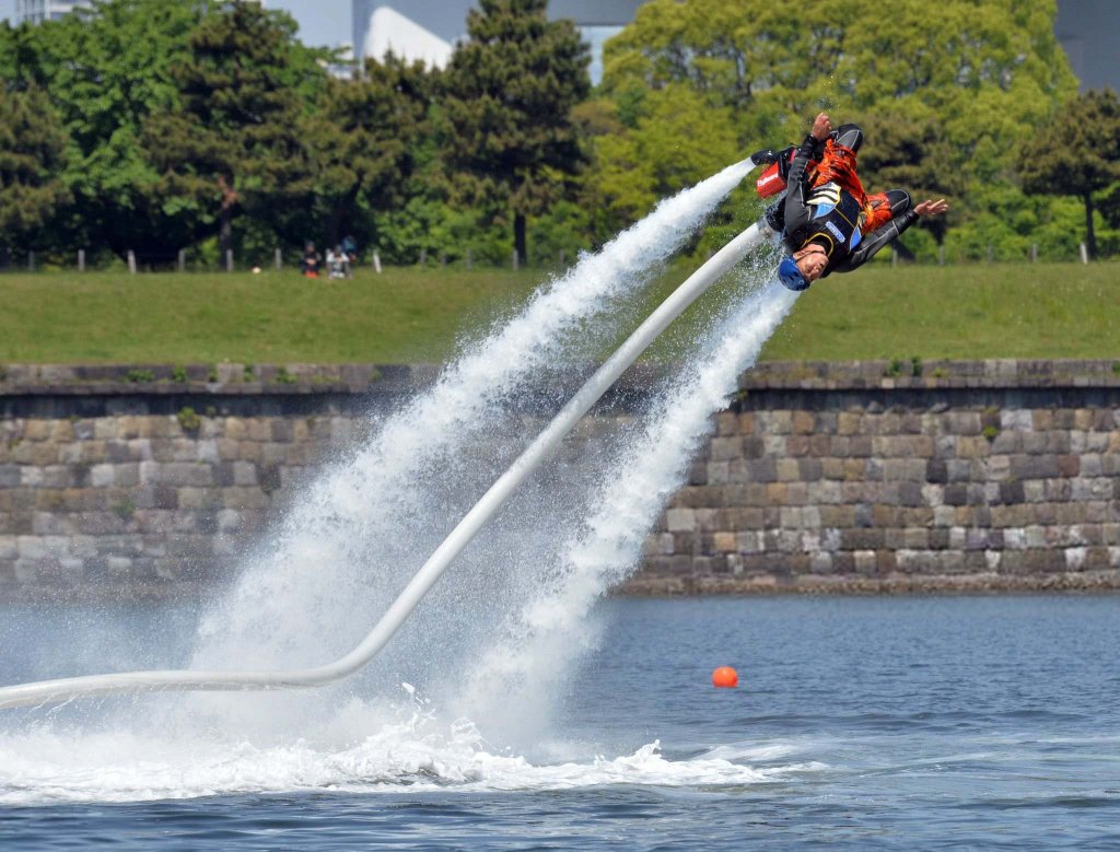
[[[433,374],[0,368],[0,597],[220,582],[293,484]],[[1120,587],[1112,362],[771,364],[740,386],[626,590]]]

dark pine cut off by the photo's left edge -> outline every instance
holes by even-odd
[[[0,251],[35,247],[35,235],[68,200],[59,177],[66,134],[38,88],[0,88]]]

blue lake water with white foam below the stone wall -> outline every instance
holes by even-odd
[[[0,676],[78,673],[45,658],[56,633],[83,672],[158,663],[193,618],[3,609]],[[296,696],[7,711],[0,843],[1120,848],[1120,597],[619,599],[597,620],[516,748],[404,687],[299,737],[260,722]],[[129,657],[122,635],[156,638]],[[739,689],[712,689],[718,665]]]

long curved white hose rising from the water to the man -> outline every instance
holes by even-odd
[[[278,672],[169,670],[38,681],[0,687],[0,709],[57,703],[86,695],[130,692],[295,690],[325,686],[353,674],[373,659],[377,652],[385,646],[428,593],[428,590],[451,564],[451,561],[470,543],[517,486],[541,462],[552,456],[563,437],[575,428],[580,418],[607,392],[637,356],[701,293],[773,233],[765,219],[759,219],[720,249],[676,288],[603,363],[603,366],[577,391],[576,395],[560,410],[544,431],[463,516],[458,525],[417,571],[409,584],[385,611],[385,615],[381,617],[381,620],[345,656],[321,666]]]

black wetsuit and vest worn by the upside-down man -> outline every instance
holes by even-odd
[[[855,124],[844,124],[837,133],[840,143],[852,150],[862,142],[862,133]],[[766,210],[766,222],[782,235],[791,252],[801,251],[810,243],[824,249],[829,261],[821,278],[830,272],[851,272],[864,265],[918,218],[909,193],[892,189],[885,194],[892,218],[871,233],[861,234],[862,210],[850,193],[837,184],[812,187],[809,166],[821,159],[823,147],[824,142],[805,137],[790,166],[785,195]]]

